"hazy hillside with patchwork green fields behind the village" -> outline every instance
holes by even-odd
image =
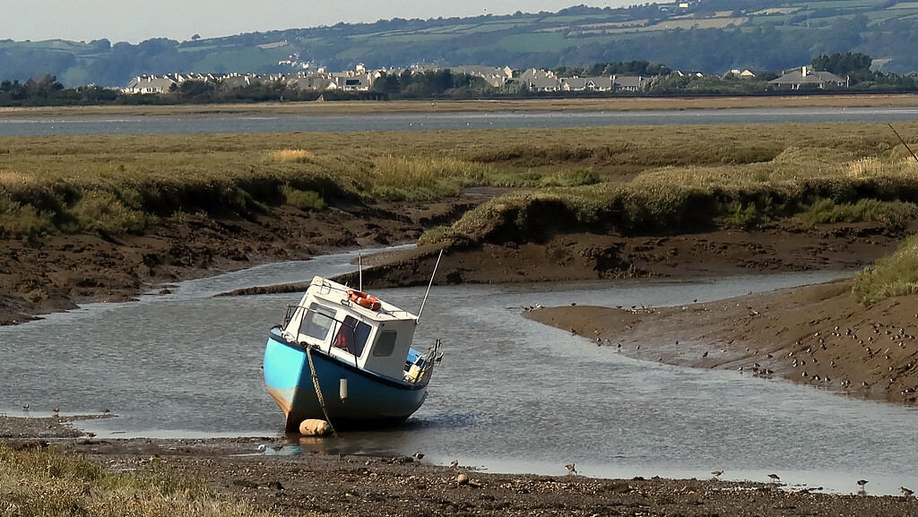
[[[778,71],[832,52],[864,52],[886,72],[918,70],[918,2],[702,0],[557,13],[380,20],[137,45],[0,41],[0,80],[45,73],[66,86],[123,86],[144,73],[276,73],[488,64],[552,68],[644,60],[722,73]]]

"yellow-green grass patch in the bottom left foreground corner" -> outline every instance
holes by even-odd
[[[53,449],[15,451],[2,443],[0,494],[0,515],[17,517],[267,515],[164,466],[116,474]]]

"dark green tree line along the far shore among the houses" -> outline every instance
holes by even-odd
[[[873,60],[860,52],[835,52],[812,58],[816,71],[835,73],[848,80],[847,92],[915,92],[918,75],[895,74],[870,70]],[[664,64],[629,61],[597,62],[586,67],[559,66],[552,69],[558,77],[599,75],[641,75],[647,79],[643,92],[627,95],[769,95],[775,92],[770,79],[777,73],[760,73],[746,78],[727,73],[722,76],[674,73]],[[839,87],[835,87],[839,89]],[[783,90],[782,93],[789,93]],[[794,93],[812,93],[806,88]],[[519,96],[597,96],[621,95],[606,92],[553,92],[534,94],[524,84],[510,81],[502,86],[492,86],[483,78],[467,73],[453,73],[448,68],[412,73],[383,73],[369,92],[344,92],[341,90],[311,90],[299,88],[284,81],[266,81],[229,88],[213,81],[185,81],[174,84],[168,93],[128,95],[118,89],[100,86],[66,88],[53,75],[40,79],[0,82],[0,106],[93,106],[93,105],[174,105],[221,104],[252,102],[284,102],[361,99],[435,99],[435,98],[491,98]]]

